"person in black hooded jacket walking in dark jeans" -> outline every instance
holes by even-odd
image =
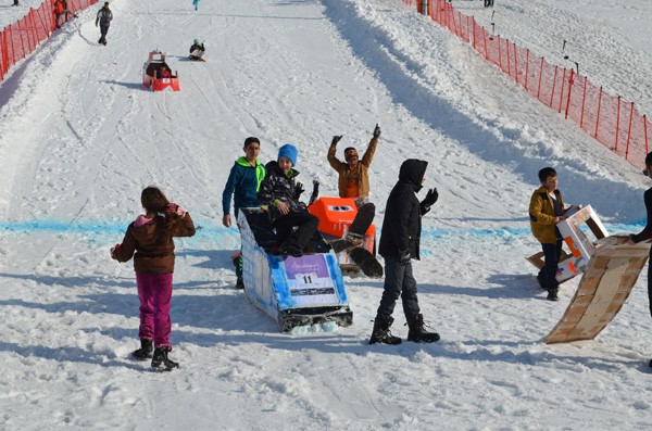
[[[408,340],[427,343],[439,340],[438,333],[428,332],[424,327],[411,263],[413,258],[419,259],[421,218],[430,211],[439,197],[437,189],[430,189],[422,202],[416,198],[425,181],[427,166],[428,162],[416,159],[404,161],[399,181],[387,199],[378,246],[378,253],[385,258],[385,286],[369,344],[401,343],[401,339],[389,331],[399,296],[402,297],[403,313],[410,327]]]

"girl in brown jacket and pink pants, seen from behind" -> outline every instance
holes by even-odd
[[[141,360],[152,358],[152,367],[163,366],[170,370],[179,366],[167,357],[172,352],[170,303],[175,261],[173,237],[192,237],[195,224],[189,213],[170,202],[156,187],[143,189],[140,202],[146,214],[139,215],[129,225],[123,242],[111,249],[111,257],[117,262],[134,257],[140,300],[140,348],[131,355]]]

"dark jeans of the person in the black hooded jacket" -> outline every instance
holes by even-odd
[[[385,257],[385,286],[376,317],[389,320],[401,296],[408,321],[417,318],[421,310],[416,297],[416,280],[412,276],[412,262],[401,265],[398,257]]]

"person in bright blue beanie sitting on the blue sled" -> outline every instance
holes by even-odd
[[[258,198],[268,207],[280,254],[300,257],[317,230],[319,219],[299,202],[304,190],[301,182],[296,181],[299,175],[294,169],[297,155],[297,147],[291,143],[278,150],[278,159],[265,165],[266,175]]]

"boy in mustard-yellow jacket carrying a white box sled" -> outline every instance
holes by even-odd
[[[563,218],[564,207],[562,192],[557,190],[556,170],[544,167],[539,170],[541,187],[532,192],[529,203],[530,228],[543,250],[543,267],[537,275],[541,289],[548,291],[548,300],[557,301],[560,283],[556,270],[562,255],[562,234],[556,224]]]

